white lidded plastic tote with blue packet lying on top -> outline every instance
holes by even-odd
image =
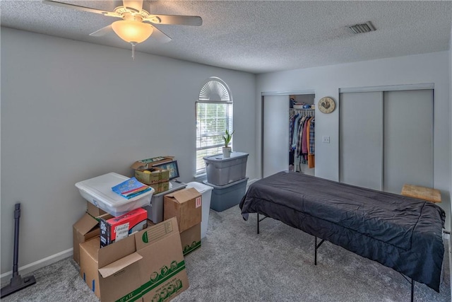
[[[131,199],[126,199],[121,195],[113,192],[112,187],[128,180],[129,178],[118,173],[107,173],[104,175],[83,180],[76,183],[78,191],[83,198],[91,202],[96,207],[106,211],[113,216],[121,216],[128,211],[144,207],[150,204],[150,199],[155,190],[144,192]]]

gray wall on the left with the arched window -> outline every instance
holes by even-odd
[[[256,178],[254,74],[1,28],[1,273],[12,269],[16,202],[19,267],[34,269],[71,255],[86,205],[76,182],[131,176],[133,161],[161,155],[193,181],[194,102],[209,76],[231,89],[234,149]]]

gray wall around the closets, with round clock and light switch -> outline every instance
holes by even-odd
[[[256,82],[256,111],[261,110],[261,93],[270,91],[314,91],[315,103],[324,96],[331,96],[340,107],[340,103],[338,103],[340,88],[434,83],[434,187],[441,190],[443,202],[439,205],[446,211],[446,228],[450,230],[452,176],[449,57],[450,51],[435,52],[259,74]],[[260,146],[260,115],[256,116],[256,123],[258,125],[256,137],[258,137]],[[321,178],[338,180],[338,128],[339,110],[336,109],[326,115],[319,112],[316,106],[315,175]],[[330,144],[322,143],[322,136],[329,136]],[[260,169],[260,152],[256,153],[256,160],[256,167]]]

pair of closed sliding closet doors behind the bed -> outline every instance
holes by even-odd
[[[433,187],[433,118],[432,89],[341,93],[340,182]]]

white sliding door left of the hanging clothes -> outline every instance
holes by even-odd
[[[264,96],[262,121],[263,177],[288,170],[289,105],[289,95]]]

